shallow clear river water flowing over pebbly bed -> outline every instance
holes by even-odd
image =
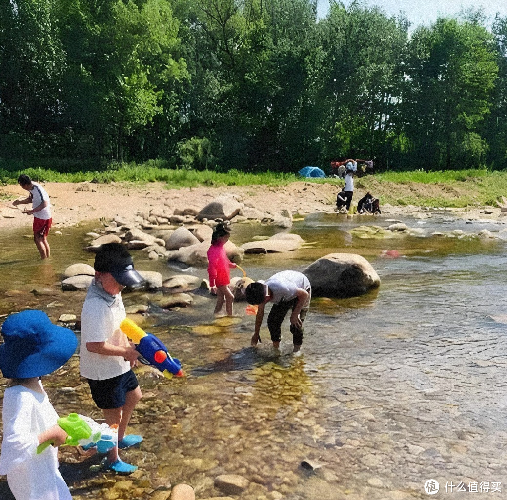
[[[182,359],[188,377],[166,381],[139,373],[145,397],[131,430],[145,440],[124,453],[140,468],[127,478],[132,483],[90,472],[97,457],[83,461],[74,449],[62,452],[62,471],[75,497],[165,500],[170,483],[188,482],[198,498],[208,498],[222,494],[213,488],[214,478],[229,473],[249,482],[233,496],[241,500],[414,498],[426,496],[423,486],[430,479],[440,483],[434,498],[504,498],[507,336],[506,326],[491,317],[507,315],[507,249],[502,241],[429,235],[505,226],[444,215],[424,224],[404,222],[426,236],[361,240],[346,230],[389,222],[314,215],[291,230],[310,248],[246,256],[242,266],[253,279],[302,270],[342,251],[364,255],[378,272],[378,291],[312,301],[299,358],[288,354],[288,321],[281,357],[273,357],[264,327],[262,346],[248,347],[255,318],[245,315],[245,303],[235,304],[240,318],[215,321],[206,295],[184,310],[151,306],[142,326]],[[83,235],[97,225],[52,234],[50,265],[37,260],[33,243],[24,238],[29,228],[5,232],[0,314],[27,305],[44,309],[54,321],[64,313],[79,317],[84,293],[55,295],[50,286],[66,265],[93,263],[82,250]],[[273,229],[234,225],[232,240],[241,244],[260,234]],[[383,257],[389,249],[402,256]],[[142,252],[134,258],[137,268],[177,274]],[[206,275],[199,269],[185,273]],[[126,305],[146,299],[124,295]],[[76,360],[45,385],[59,413],[78,410],[100,418]],[[304,460],[314,470],[302,466]],[[0,498],[12,498],[5,482]]]

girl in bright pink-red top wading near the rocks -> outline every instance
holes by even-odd
[[[223,222],[219,222],[213,229],[208,250],[208,275],[211,293],[216,293],[214,314],[220,313],[225,302],[227,314],[232,316],[234,294],[228,285],[231,282],[230,267],[236,267],[236,264],[229,260],[224,248],[230,236],[231,231]]]

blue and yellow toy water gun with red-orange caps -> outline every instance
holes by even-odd
[[[176,358],[172,358],[167,348],[158,337],[152,333],[145,332],[132,320],[125,318],[120,323],[120,330],[127,335],[134,344],[135,350],[146,358],[155,368],[158,368],[166,378],[172,376],[183,377],[182,364]]]

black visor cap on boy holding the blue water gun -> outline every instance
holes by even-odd
[[[93,268],[99,273],[111,273],[120,285],[138,287],[146,280],[134,269],[134,262],[125,245],[106,243],[95,255]]]

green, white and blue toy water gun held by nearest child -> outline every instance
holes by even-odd
[[[118,429],[107,424],[97,424],[95,420],[77,413],[70,413],[68,417],[60,417],[56,421],[58,427],[67,434],[63,446],[85,446],[94,444],[101,453],[106,453],[118,444]],[[117,427],[117,426],[115,426]],[[48,439],[37,447],[37,454],[53,445],[54,441]]]

